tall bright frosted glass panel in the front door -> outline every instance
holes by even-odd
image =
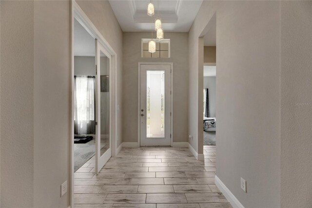
[[[146,137],[165,137],[165,71],[146,71]]]

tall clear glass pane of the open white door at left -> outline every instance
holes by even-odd
[[[110,147],[110,59],[100,51],[100,155]]]

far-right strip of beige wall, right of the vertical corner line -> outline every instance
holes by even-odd
[[[312,206],[311,58],[312,1],[281,1],[280,168],[285,208]]]

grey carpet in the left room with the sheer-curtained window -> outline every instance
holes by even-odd
[[[94,144],[74,145],[74,172],[95,155],[96,146]]]

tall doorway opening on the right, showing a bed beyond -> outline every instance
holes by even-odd
[[[206,171],[216,171],[216,14],[203,31],[200,47],[203,47],[203,91],[200,92],[203,93],[203,155]]]

